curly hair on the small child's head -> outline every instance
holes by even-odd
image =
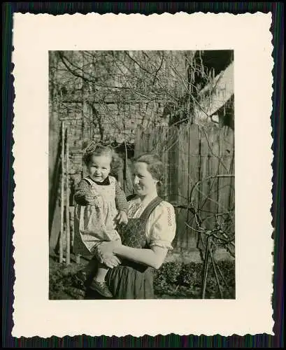
[[[83,162],[86,166],[90,164],[90,160],[94,155],[106,155],[107,157],[110,157],[110,174],[116,176],[120,169],[122,169],[122,159],[110,146],[96,144],[94,141],[92,141],[89,146],[85,148],[83,155]]]

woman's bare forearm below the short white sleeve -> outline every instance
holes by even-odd
[[[122,245],[113,248],[113,253],[118,255],[120,258],[126,258],[128,260],[159,269],[166,258],[168,248],[152,246],[150,249],[143,249],[131,248],[129,246]]]

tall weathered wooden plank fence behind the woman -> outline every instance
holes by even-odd
[[[194,124],[138,128],[135,155],[144,152],[157,153],[164,162],[162,197],[176,208],[175,248],[190,251],[200,246],[201,234],[196,230],[193,209],[206,229],[212,230],[220,218],[227,234],[234,235],[233,130]]]

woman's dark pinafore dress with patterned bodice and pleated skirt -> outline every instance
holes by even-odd
[[[122,244],[133,248],[148,248],[145,238],[146,224],[152,211],[161,202],[161,198],[155,198],[140,218],[129,219],[122,235]],[[152,267],[123,260],[121,265],[108,270],[106,283],[115,299],[153,299],[154,272]]]

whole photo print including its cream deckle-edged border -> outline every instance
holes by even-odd
[[[14,27],[13,337],[273,334],[271,13]]]

